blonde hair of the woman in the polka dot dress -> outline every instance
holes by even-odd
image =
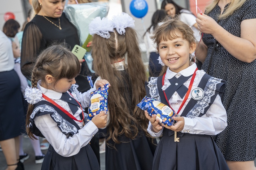
[[[228,6],[227,10],[225,11],[224,14],[221,14],[219,16],[219,19],[224,19],[230,15],[232,15],[235,10],[237,10],[238,8],[240,8],[244,2],[247,1],[247,0],[240,0],[240,1],[237,1],[237,0],[231,0],[231,3],[230,5]],[[215,6],[218,4],[219,0],[214,0],[212,1],[207,7],[206,7],[206,10],[205,10],[205,14],[209,14],[209,12],[211,12],[211,10],[213,10],[213,8],[215,8]]]

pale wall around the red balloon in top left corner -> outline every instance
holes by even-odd
[[[15,15],[15,20],[19,22],[20,27],[22,27],[25,17],[23,14],[23,8],[21,0],[0,0],[0,29],[3,29],[5,20],[4,14],[6,12],[12,12]]]

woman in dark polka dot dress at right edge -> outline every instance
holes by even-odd
[[[197,59],[206,71],[216,39],[209,75],[226,81],[228,126],[215,141],[231,170],[255,170],[256,0],[214,0],[196,21],[203,33]]]

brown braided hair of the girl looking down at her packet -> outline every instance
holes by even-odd
[[[41,80],[42,83],[47,85],[45,76],[52,75],[54,77],[53,86],[62,79],[72,79],[80,73],[80,63],[78,58],[66,48],[66,44],[51,45],[41,52],[36,59],[31,84],[32,88],[37,87],[37,83]],[[26,118],[26,131],[29,137],[34,137],[29,128],[29,119],[33,112],[34,105],[29,104],[27,118]]]

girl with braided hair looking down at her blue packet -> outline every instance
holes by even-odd
[[[32,88],[25,92],[29,108],[27,134],[45,137],[50,143],[42,170],[99,170],[97,158],[88,144],[98,128],[106,126],[105,112],[84,123],[90,92],[103,87],[107,80],[96,82],[96,88],[80,93],[75,77],[81,69],[78,58],[62,45],[42,51],[32,71]]]

